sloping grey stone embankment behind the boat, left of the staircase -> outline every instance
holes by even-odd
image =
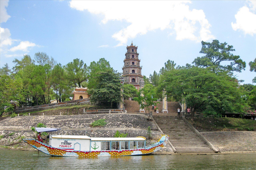
[[[90,127],[91,123],[106,119],[106,125],[101,128]],[[114,137],[116,131],[127,133],[127,137],[147,136],[150,126],[152,137],[158,140],[161,133],[153,121],[147,121],[145,115],[133,114],[95,114],[95,115],[64,115],[64,116],[19,116],[0,121],[0,145],[21,141],[21,138],[34,138],[31,127],[43,123],[48,128],[61,128],[50,134],[88,135],[90,137]],[[149,141],[153,142],[153,141]],[[152,144],[152,143],[148,143]],[[25,143],[13,147],[28,148]]]

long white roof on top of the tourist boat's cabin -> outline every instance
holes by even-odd
[[[128,141],[128,140],[146,140],[142,137],[89,137],[79,135],[51,135],[52,138],[65,138],[65,139],[91,139],[92,141]]]

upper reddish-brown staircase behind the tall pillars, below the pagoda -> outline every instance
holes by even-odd
[[[179,102],[167,102],[168,113],[161,113],[162,105],[163,105],[163,102],[160,102],[159,104],[157,104],[159,115],[161,116],[177,116],[177,108],[178,107],[181,108]],[[138,104],[138,102],[133,100],[125,100],[124,107],[127,113],[136,114],[136,113],[139,113],[140,111],[140,105]],[[148,112],[147,110],[145,111]],[[150,111],[153,112],[153,116],[157,115],[156,113],[154,113],[154,110],[152,110],[152,107],[150,107]]]

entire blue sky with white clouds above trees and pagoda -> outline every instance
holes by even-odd
[[[191,64],[201,41],[227,42],[246,62],[234,73],[252,83],[256,58],[256,1],[5,1],[0,0],[0,67],[24,54],[46,52],[66,65],[105,58],[122,72],[126,46],[138,46],[142,74],[167,60]]]

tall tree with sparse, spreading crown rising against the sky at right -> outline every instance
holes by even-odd
[[[200,67],[217,66],[230,72],[241,72],[245,69],[246,63],[240,59],[239,55],[233,55],[232,51],[235,51],[235,49],[232,45],[227,45],[226,42],[220,43],[218,40],[213,40],[211,43],[202,41],[200,53],[205,55],[197,57],[193,63]],[[225,61],[230,62],[230,64],[222,65]]]

